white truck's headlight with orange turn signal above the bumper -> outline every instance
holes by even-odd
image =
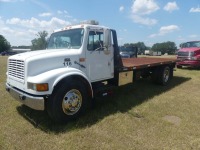
[[[49,90],[49,85],[48,83],[28,83],[28,89],[44,92]]]

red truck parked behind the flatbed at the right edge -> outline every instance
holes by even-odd
[[[177,59],[179,60],[176,63],[177,68],[182,68],[182,66],[200,67],[200,41],[180,44]]]

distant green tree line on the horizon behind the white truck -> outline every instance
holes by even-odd
[[[45,49],[47,45],[47,31],[41,31],[36,34],[36,38],[31,41],[31,46],[21,46],[17,48],[31,48],[31,50],[40,50]],[[148,47],[144,44],[144,42],[137,42],[137,43],[125,43],[123,46],[125,47],[137,47],[138,54],[144,54],[145,50],[151,50],[153,52],[161,52],[162,54],[175,54],[177,51],[176,44],[171,41],[163,42],[163,43],[156,43],[152,47]],[[15,47],[12,47],[15,48]],[[10,43],[5,39],[3,35],[0,35],[0,53],[3,51],[8,51],[11,49]]]

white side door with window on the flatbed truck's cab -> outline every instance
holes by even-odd
[[[114,76],[113,47],[109,47],[108,52],[105,52],[103,41],[103,29],[89,31],[86,65],[87,75],[92,82],[109,79]]]

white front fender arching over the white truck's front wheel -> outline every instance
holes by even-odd
[[[85,75],[84,72],[82,72],[76,68],[58,68],[58,69],[50,70],[50,71],[41,73],[36,76],[28,77],[27,81],[30,83],[48,83],[49,91],[40,92],[39,95],[50,95],[53,92],[54,87],[62,79],[69,77],[69,76],[80,76],[80,77],[84,78],[90,85],[90,89],[92,91],[92,97],[93,97],[93,90],[92,90],[92,85],[91,85],[90,80],[88,79],[88,77]],[[33,91],[32,91],[32,93],[33,93]],[[35,94],[38,94],[38,92],[36,92]]]

